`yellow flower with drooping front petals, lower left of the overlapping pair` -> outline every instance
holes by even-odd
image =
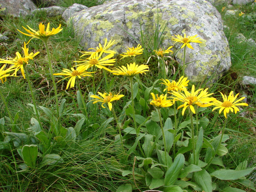
[[[91,76],[92,77],[91,73],[94,73],[94,72],[87,72],[85,70],[86,69],[85,69],[84,66],[79,66],[76,69],[71,68],[71,70],[62,69],[61,73],[54,73],[53,75],[64,75],[64,76],[67,75],[67,77],[61,79],[60,81],[70,77],[70,79],[68,80],[67,87],[66,87],[66,89],[68,89],[69,84],[70,84],[70,88],[75,86],[76,77],[78,77],[79,79],[81,79],[81,77],[85,77],[85,76]],[[58,82],[60,82],[60,81],[58,81]]]

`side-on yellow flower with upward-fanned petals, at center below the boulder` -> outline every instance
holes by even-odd
[[[118,66],[119,67],[119,66]],[[137,74],[142,74],[148,71],[148,65],[136,65],[135,62],[127,64],[127,68],[122,66],[118,68],[112,68],[114,70],[111,71],[114,75],[124,75],[127,77],[133,77]]]

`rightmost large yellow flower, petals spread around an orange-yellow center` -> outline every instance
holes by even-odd
[[[240,99],[236,100],[237,96],[239,95],[239,93],[236,94],[236,96],[234,96],[234,92],[231,91],[227,97],[227,95],[223,95],[223,93],[221,93],[223,102],[219,101],[219,100],[214,100],[213,101],[213,105],[216,106],[212,109],[220,109],[219,113],[221,113],[221,111],[223,111],[224,116],[227,118],[227,113],[229,113],[229,111],[231,112],[235,112],[235,114],[237,113],[237,111],[239,111],[239,108],[237,108],[236,106],[238,105],[242,105],[242,106],[248,106],[247,103],[237,103],[241,100],[243,100],[245,97],[241,97]]]

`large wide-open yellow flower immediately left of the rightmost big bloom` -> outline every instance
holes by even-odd
[[[180,108],[184,107],[182,109],[182,115],[184,115],[185,110],[188,107],[191,109],[191,111],[193,113],[196,113],[195,108],[193,107],[194,105],[197,105],[199,107],[209,107],[213,104],[211,101],[215,100],[215,98],[209,97],[213,93],[208,94],[207,90],[208,90],[208,88],[198,89],[195,91],[195,86],[192,85],[191,93],[188,92],[187,89],[184,87],[183,91],[185,94],[183,94],[181,92],[172,91],[172,94],[175,97],[171,97],[171,98],[173,98],[175,101],[179,100],[179,101],[183,102],[183,104],[177,108],[177,109],[180,109]]]

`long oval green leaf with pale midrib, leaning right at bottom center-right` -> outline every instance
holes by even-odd
[[[164,185],[173,185],[177,180],[178,175],[180,174],[181,169],[185,163],[185,158],[183,154],[179,154],[175,157],[173,164],[170,168],[167,169],[164,178]]]

